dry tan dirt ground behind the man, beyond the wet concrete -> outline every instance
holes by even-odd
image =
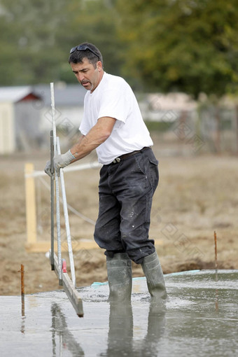
[[[238,269],[238,160],[229,155],[194,155],[190,148],[167,150],[154,137],[160,161],[160,184],[151,214],[150,237],[157,242],[164,273],[214,269],[214,231],[218,267]],[[183,153],[183,155],[181,155]],[[93,162],[95,154],[83,162]],[[58,289],[45,253],[27,253],[25,217],[25,162],[43,170],[48,153],[0,157],[0,294],[20,295],[20,266],[25,265],[25,293]],[[67,202],[90,220],[97,219],[99,169],[64,174]],[[50,240],[50,193],[47,176],[36,179],[38,240]],[[73,240],[93,239],[94,225],[70,213]],[[63,216],[62,216],[63,222]],[[64,227],[62,223],[64,236]],[[64,237],[63,237],[64,238]],[[64,254],[65,255],[65,254]],[[68,259],[65,255],[66,260]],[[77,286],[106,281],[106,260],[101,249],[74,252]],[[69,267],[69,262],[67,263]],[[142,276],[133,264],[133,276]]]

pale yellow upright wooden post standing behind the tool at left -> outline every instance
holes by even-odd
[[[27,218],[27,244],[36,243],[36,192],[34,165],[25,164],[25,190],[26,190],[26,218]]]

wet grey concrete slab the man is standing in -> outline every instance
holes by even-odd
[[[217,281],[216,281],[217,277]],[[165,275],[165,311],[151,305],[145,278],[132,304],[106,301],[107,283],[78,288],[78,318],[62,290],[0,297],[0,356],[238,356],[238,271]]]

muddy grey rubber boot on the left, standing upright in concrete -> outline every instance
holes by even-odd
[[[132,261],[127,253],[106,257],[109,279],[109,302],[129,302],[132,296]]]

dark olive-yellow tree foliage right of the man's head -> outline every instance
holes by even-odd
[[[147,90],[237,90],[237,0],[118,0],[118,10],[124,73]]]

